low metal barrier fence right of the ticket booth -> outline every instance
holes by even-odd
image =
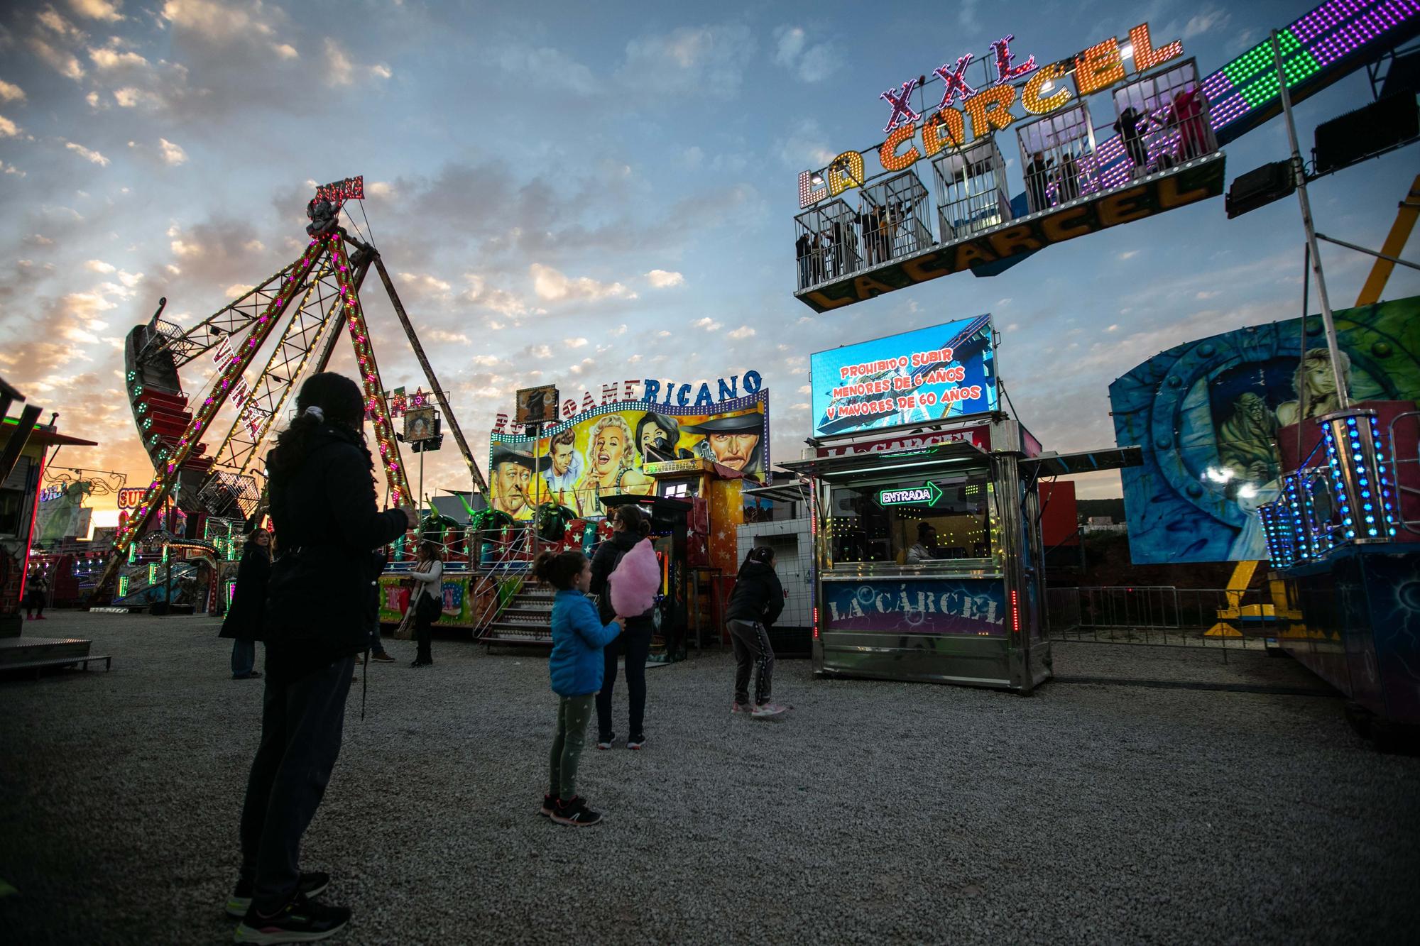
[[[1048,588],[1045,608],[1052,641],[1257,651],[1288,624],[1285,615],[1271,614],[1272,598],[1265,588]],[[1208,635],[1220,621],[1230,631]]]

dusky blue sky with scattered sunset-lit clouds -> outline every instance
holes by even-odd
[[[750,369],[770,391],[774,456],[794,459],[811,352],[981,312],[1001,334],[1011,405],[1047,449],[1110,446],[1115,378],[1176,344],[1301,314],[1295,199],[1237,220],[1213,199],[993,278],[816,315],[792,295],[798,173],[882,141],[882,89],[1005,34],[1018,61],[1051,61],[1147,21],[1156,47],[1183,40],[1207,74],[1311,6],[13,1],[0,11],[0,375],[45,418],[58,411],[61,432],[99,442],[60,464],[146,483],[122,391],[129,328],[159,297],[166,320],[192,325],[264,281],[300,256],[314,183],[364,175],[356,223],[480,464],[517,388],[558,384],[565,398]],[[1304,149],[1318,122],[1367,101],[1362,72],[1301,104]],[[1018,193],[1014,134],[1000,142]],[[1225,152],[1231,180],[1285,158],[1285,128],[1274,119]],[[1318,227],[1379,247],[1414,170],[1407,149],[1316,182]],[[1369,259],[1326,247],[1323,261],[1333,305],[1349,305]],[[1402,270],[1386,298],[1417,293]],[[385,386],[422,384],[388,301],[362,298]],[[202,388],[202,364],[186,389]],[[354,374],[348,345],[331,368]],[[467,489],[452,439],[425,476],[429,493]],[[1081,482],[1082,497],[1118,494],[1118,474]]]

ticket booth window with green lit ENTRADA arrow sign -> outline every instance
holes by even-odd
[[[930,500],[902,503],[885,491],[929,489]],[[926,476],[834,486],[831,520],[834,564],[990,558],[993,548],[987,477]]]

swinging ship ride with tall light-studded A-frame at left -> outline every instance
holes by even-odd
[[[346,202],[362,202],[364,196],[364,178],[318,187],[307,206],[310,239],[300,259],[192,328],[162,321],[166,305],[162,300],[153,317],[128,334],[124,347],[128,401],[153,463],[153,479],[115,537],[114,553],[95,585],[97,602],[111,597],[129,547],[165,509],[229,520],[257,511],[266,486],[261,459],[273,428],[302,375],[325,371],[345,330],[359,364],[365,412],[383,467],[388,501],[393,506],[412,501],[361,305],[361,287],[371,267],[379,274],[447,429],[469,464],[473,490],[487,489],[379,250],[339,224]],[[268,348],[273,338],[275,344]],[[248,382],[247,371],[267,348],[266,362]],[[179,372],[203,355],[216,371],[204,391],[189,395]],[[219,413],[224,408],[230,420],[217,439],[213,435],[223,429]],[[213,442],[216,447],[209,450]]]

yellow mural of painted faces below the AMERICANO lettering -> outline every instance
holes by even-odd
[[[650,496],[646,463],[704,459],[758,480],[770,467],[768,392],[714,408],[616,401],[547,426],[534,439],[490,436],[490,504],[515,520],[544,503],[581,518],[606,516],[602,497]]]

